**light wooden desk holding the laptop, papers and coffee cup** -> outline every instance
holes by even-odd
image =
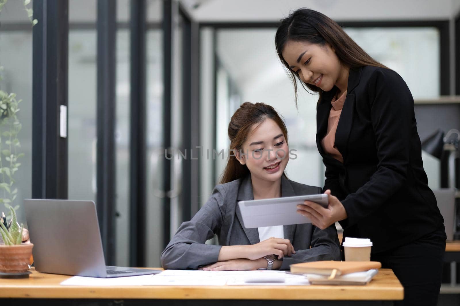
[[[60,305],[62,299],[105,299],[97,305],[119,305],[114,300],[130,300],[125,305],[277,305],[289,300],[289,305],[392,305],[403,299],[403,286],[391,269],[381,269],[366,286],[61,286],[67,275],[38,273],[29,279],[0,278],[0,305],[14,298],[15,305]],[[46,299],[46,300],[36,300]],[[176,300],[176,302],[174,302]],[[180,300],[178,302],[177,300]],[[254,300],[259,303],[254,304]],[[43,304],[37,302],[43,301]],[[382,302],[383,301],[383,302]],[[104,304],[104,302],[107,302]],[[123,304],[123,303],[121,303]],[[72,304],[75,305],[75,304]],[[78,303],[76,304],[78,305]]]

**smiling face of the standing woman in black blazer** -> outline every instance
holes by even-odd
[[[289,40],[282,50],[282,56],[289,69],[297,73],[304,83],[329,91],[339,79],[340,61],[329,44],[322,46]]]

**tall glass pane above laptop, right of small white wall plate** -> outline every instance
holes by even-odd
[[[69,199],[96,201],[96,29],[69,31]]]

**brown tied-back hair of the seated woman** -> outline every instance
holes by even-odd
[[[286,144],[288,144],[288,129],[281,119],[281,116],[272,106],[265,103],[253,104],[251,102],[244,102],[230,119],[228,130],[230,152],[233,150],[242,150],[242,146],[253,125],[261,124],[265,119],[272,119],[278,124],[284,135],[284,139],[286,139]],[[230,154],[227,166],[222,173],[220,184],[243,178],[248,174],[249,169],[247,166],[242,165],[233,154]],[[285,174],[283,173],[283,175]]]

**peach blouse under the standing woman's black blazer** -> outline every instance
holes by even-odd
[[[335,147],[335,132],[337,131],[337,124],[339,123],[340,113],[342,112],[345,98],[346,91],[339,97],[339,99],[335,100],[335,96],[332,98],[332,108],[329,112],[328,119],[328,132],[321,140],[323,150],[340,162],[344,162],[344,159],[339,150]]]

